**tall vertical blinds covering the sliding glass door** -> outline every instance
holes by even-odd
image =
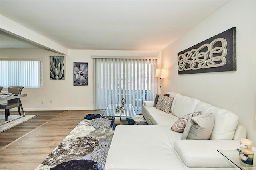
[[[156,59],[94,58],[94,109],[106,109],[122,98],[134,109],[156,94]]]

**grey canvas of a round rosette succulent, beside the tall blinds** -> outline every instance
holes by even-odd
[[[88,86],[88,63],[74,62],[74,86]]]

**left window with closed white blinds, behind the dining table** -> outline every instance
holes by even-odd
[[[0,86],[42,87],[42,61],[1,60]]]

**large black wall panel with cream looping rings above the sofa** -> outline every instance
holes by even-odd
[[[178,53],[178,74],[222,71],[236,71],[235,27]]]

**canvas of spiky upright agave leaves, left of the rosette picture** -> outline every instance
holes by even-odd
[[[65,80],[65,56],[50,56],[50,80]]]

